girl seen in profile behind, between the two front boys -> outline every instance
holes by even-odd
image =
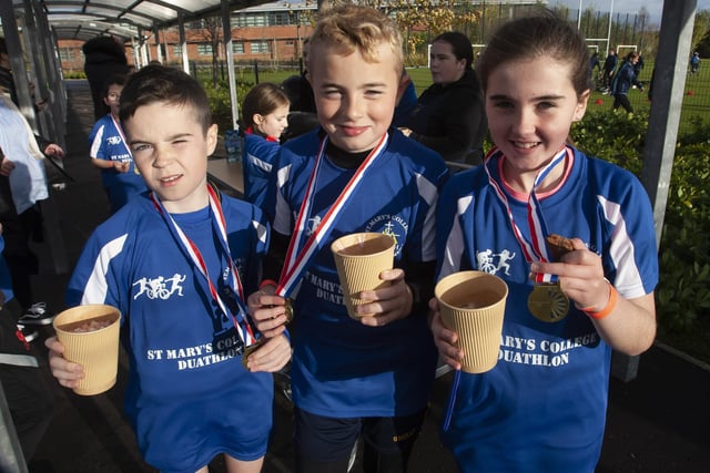
[[[244,199],[262,209],[280,148],[278,138],[288,125],[287,117],[288,96],[276,84],[256,84],[244,97]],[[266,214],[273,217],[273,209]]]

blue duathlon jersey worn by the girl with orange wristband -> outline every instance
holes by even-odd
[[[627,171],[578,151],[568,156],[562,184],[540,198],[548,232],[581,238],[622,297],[650,294],[658,261],[648,195]],[[489,169],[529,240],[527,196],[505,186],[500,164],[495,160]],[[610,347],[574,304],[557,322],[530,313],[529,264],[483,166],[446,185],[437,235],[439,278],[478,269],[509,288],[497,366],[483,374],[459,371],[454,381],[443,435],[460,470],[592,472],[604,439]]]

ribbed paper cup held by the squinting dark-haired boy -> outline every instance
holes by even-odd
[[[57,338],[64,346],[64,358],[84,368],[84,379],[74,388],[81,395],[94,395],[115,384],[119,369],[119,309],[101,304],[72,307],[53,321]],[[98,330],[82,331],[94,325],[110,323]]]

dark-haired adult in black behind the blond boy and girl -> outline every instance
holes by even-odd
[[[434,83],[417,101],[403,133],[436,151],[445,161],[479,164],[486,115],[474,50],[463,33],[449,31],[432,43]]]

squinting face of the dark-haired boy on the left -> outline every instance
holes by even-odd
[[[216,145],[216,125],[206,134],[190,105],[152,103],[124,122],[133,160],[148,187],[168,212],[206,205],[207,156]]]

